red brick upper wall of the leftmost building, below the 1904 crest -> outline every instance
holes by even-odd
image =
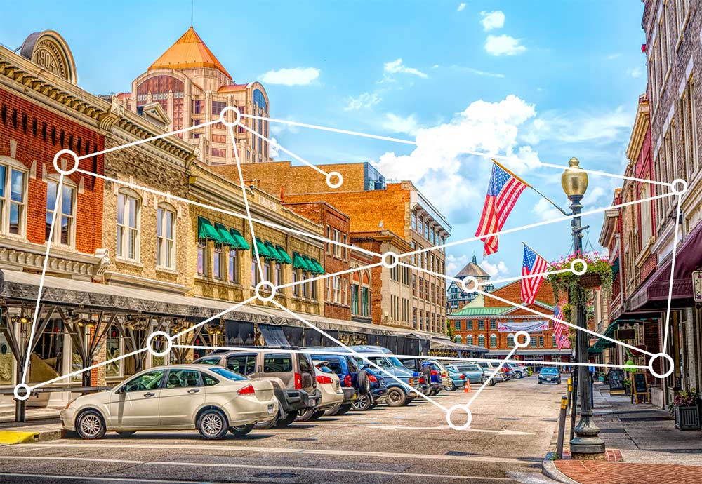
[[[103,147],[104,137],[95,131],[0,89],[0,156],[21,163],[27,170],[23,230],[27,241],[46,241],[46,177],[58,176],[53,167],[55,154],[70,149],[84,156]],[[65,159],[67,168],[71,168],[73,159]],[[80,160],[79,168],[102,174],[102,163],[101,154],[90,156]],[[81,173],[72,173],[66,179],[76,187],[75,250],[93,254],[102,245],[102,180]]]

